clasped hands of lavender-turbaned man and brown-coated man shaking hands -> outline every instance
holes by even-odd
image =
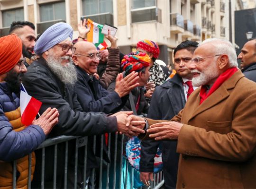
[[[128,137],[138,136],[145,133],[146,121],[144,118],[132,115],[133,112],[117,112],[111,116],[117,118],[119,134],[125,134]]]

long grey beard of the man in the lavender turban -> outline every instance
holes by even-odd
[[[69,60],[66,66],[61,65],[61,61]],[[76,69],[73,65],[73,60],[69,56],[63,56],[55,58],[54,56],[48,56],[46,59],[48,67],[55,73],[55,75],[64,83],[74,85],[77,80]]]

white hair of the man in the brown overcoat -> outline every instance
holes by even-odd
[[[226,39],[209,38],[204,40],[199,46],[211,43],[215,47],[215,54],[226,54],[229,57],[229,67],[238,67],[237,53],[234,45]]]

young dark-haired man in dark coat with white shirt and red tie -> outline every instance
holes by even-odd
[[[170,120],[183,109],[187,97],[195,87],[190,88],[192,74],[188,64],[198,43],[184,41],[174,49],[174,68],[176,74],[163,85],[156,87],[152,96],[148,118]],[[190,81],[190,82],[189,82]],[[176,187],[179,154],[176,153],[177,141],[162,141],[162,161],[164,165],[165,188]],[[141,142],[140,180],[145,184],[153,180],[154,157],[159,141]]]

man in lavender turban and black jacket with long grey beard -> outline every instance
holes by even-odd
[[[75,52],[72,43],[73,29],[66,23],[57,23],[49,27],[37,40],[34,51],[40,57],[28,67],[22,78],[28,94],[40,100],[43,104],[39,112],[48,107],[59,111],[59,122],[50,136],[73,135],[89,136],[106,132],[119,131],[125,134],[144,133],[144,130],[129,125],[128,114],[124,112],[106,116],[104,113],[83,112],[74,84],[77,79],[76,70],[71,56]],[[74,182],[74,144],[69,143],[68,188],[82,187],[83,172],[78,167],[78,182]],[[53,188],[53,150],[46,148],[45,188]],[[58,145],[57,188],[63,188],[64,182],[64,145]],[[40,152],[37,153],[41,158]],[[33,187],[41,185],[40,160],[36,165]],[[81,178],[80,178],[81,177]],[[79,182],[81,181],[81,182]]]

